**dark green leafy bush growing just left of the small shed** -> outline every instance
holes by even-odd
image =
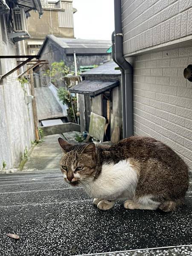
[[[64,87],[59,87],[58,89],[58,98],[68,106],[67,114],[70,122],[76,122],[76,113],[77,113],[77,98],[76,96],[71,96],[70,91]],[[74,116],[74,113],[75,116]]]

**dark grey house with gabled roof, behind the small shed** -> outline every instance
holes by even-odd
[[[46,60],[48,65],[44,66],[36,79],[36,84],[47,85],[49,78],[44,76],[44,70],[51,67],[53,62],[64,61],[70,71],[75,71],[75,57],[77,71],[81,67],[99,65],[104,61],[111,60],[111,53],[107,50],[111,46],[111,41],[107,40],[87,40],[76,38],[58,38],[54,35],[47,35],[38,55],[41,60]],[[75,53],[75,57],[74,57]],[[42,71],[43,70],[43,71]],[[63,82],[55,81],[56,86],[62,86]],[[64,86],[64,85],[63,85]]]

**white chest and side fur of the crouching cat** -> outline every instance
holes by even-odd
[[[137,171],[129,160],[117,164],[104,164],[99,177],[84,187],[93,198],[113,200],[133,198],[137,186]]]

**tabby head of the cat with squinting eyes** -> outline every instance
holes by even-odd
[[[94,143],[72,145],[62,138],[58,143],[64,151],[60,162],[64,180],[73,186],[93,180],[96,172],[96,148]]]

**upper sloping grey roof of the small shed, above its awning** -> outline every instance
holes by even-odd
[[[120,75],[120,70],[115,70],[118,65],[114,61],[108,61],[105,64],[101,64],[98,67],[92,68],[89,71],[82,73],[82,76],[88,75]]]

